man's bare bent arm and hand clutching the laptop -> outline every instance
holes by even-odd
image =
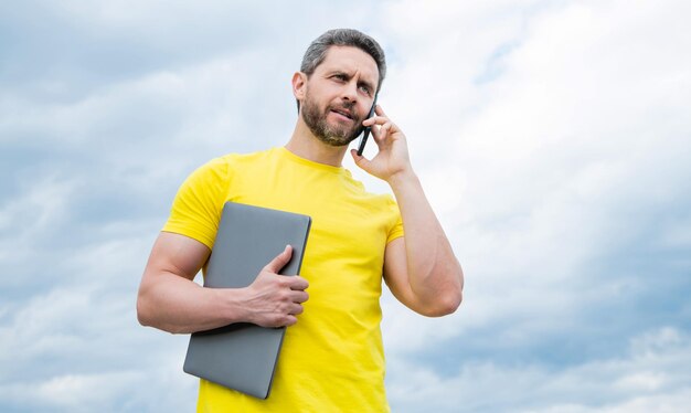
[[[193,282],[211,251],[184,235],[161,232],[143,272],[137,297],[139,322],[169,332],[194,332],[253,322],[289,326],[302,313],[307,280],[281,276],[290,260],[286,247],[245,288],[204,288]]]

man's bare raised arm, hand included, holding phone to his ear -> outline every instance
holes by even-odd
[[[363,125],[376,125],[378,155],[368,160],[351,153],[359,167],[389,182],[401,210],[405,236],[386,246],[384,279],[400,301],[419,314],[454,313],[463,298],[463,271],[413,171],[405,136],[380,106],[376,115]]]

